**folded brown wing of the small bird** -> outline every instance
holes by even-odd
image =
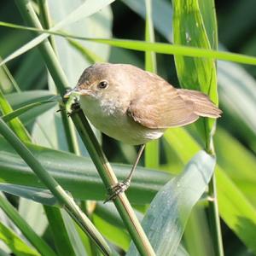
[[[193,101],[179,95],[169,84],[156,90],[147,90],[143,96],[131,101],[127,114],[137,123],[148,128],[168,128],[193,123],[199,118]]]

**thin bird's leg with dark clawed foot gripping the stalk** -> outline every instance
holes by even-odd
[[[139,162],[139,160],[143,154],[144,148],[145,148],[145,144],[141,145],[141,147],[138,151],[138,154],[137,154],[137,158],[131,168],[131,172],[129,173],[128,177],[126,177],[125,180],[122,181],[121,183],[116,183],[111,188],[108,189],[109,196],[108,196],[108,199],[106,201],[104,201],[104,203],[107,201],[113,200],[117,195],[119,195],[119,193],[125,192],[125,190],[130,187],[131,177],[136,169],[137,163]]]

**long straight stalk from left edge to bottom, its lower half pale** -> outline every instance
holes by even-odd
[[[0,133],[3,137],[15,148],[15,151],[20,154],[20,157],[31,167],[32,171],[38,176],[40,181],[55,195],[56,199],[60,202],[73,220],[79,224],[80,228],[86,232],[90,238],[95,241],[96,246],[102,251],[104,255],[111,255],[111,249],[108,243],[104,240],[102,235],[96,230],[95,226],[86,217],[84,212],[76,205],[73,198],[61,188],[60,184],[55,181],[53,177],[45,171],[41,163],[33,156],[32,152],[26,147],[24,143],[15,135],[13,131],[6,125],[3,119],[0,118]]]

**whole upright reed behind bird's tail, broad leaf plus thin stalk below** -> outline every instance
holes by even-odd
[[[215,6],[212,0],[204,2],[198,0],[173,0],[172,6],[173,41],[175,44],[204,49],[214,49],[212,47],[217,47],[217,22],[214,12]],[[208,35],[207,32],[209,33]],[[182,87],[185,89],[201,90],[210,97],[212,102],[218,105],[215,60],[175,55],[175,64],[177,76]],[[212,129],[214,129],[215,120],[201,119],[195,125],[204,140],[207,152],[214,154],[212,143],[214,131]],[[212,175],[208,188],[208,195],[212,198],[212,201],[209,201],[208,212],[213,247],[215,254],[222,256],[224,255],[224,250],[218,217],[217,190],[214,174]]]

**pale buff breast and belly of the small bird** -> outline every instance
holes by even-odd
[[[116,101],[98,101],[87,96],[80,98],[86,117],[96,129],[121,142],[139,145],[163,135],[163,130],[138,124],[127,113],[127,107]]]

